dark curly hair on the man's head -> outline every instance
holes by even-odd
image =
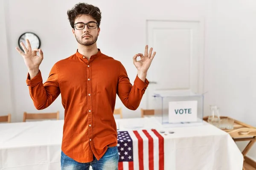
[[[74,28],[76,18],[82,14],[93,17],[93,19],[97,21],[99,27],[101,21],[101,11],[99,8],[87,3],[77,3],[72,9],[67,11],[68,20],[70,21],[72,28]]]

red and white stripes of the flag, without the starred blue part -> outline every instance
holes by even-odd
[[[119,170],[163,170],[164,141],[157,130],[128,131],[133,141],[133,162],[119,162]]]

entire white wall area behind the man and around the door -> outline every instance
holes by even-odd
[[[5,17],[1,13],[0,26],[3,30],[6,26],[8,48],[3,48],[3,51],[8,57],[1,56],[0,68],[5,69],[6,73],[9,69],[10,76],[3,74],[3,71],[0,72],[0,99],[1,102],[5,102],[2,104],[1,111],[12,112],[13,117],[16,118],[15,121],[22,120],[23,111],[36,111],[25,82],[26,66],[22,57],[15,51],[18,37],[25,31],[33,31],[41,38],[44,61],[40,69],[43,79],[46,80],[55,62],[76,52],[76,40],[67,20],[67,9],[78,2],[75,0],[72,2],[63,0],[4,2]],[[208,91],[204,102],[205,114],[209,114],[209,104],[216,104],[220,107],[222,115],[256,126],[256,114],[253,108],[256,101],[254,90],[256,48],[253,48],[256,44],[256,23],[254,22],[256,1],[87,0],[87,3],[99,6],[102,11],[98,47],[104,54],[124,64],[132,83],[137,73],[132,63],[132,56],[143,52],[146,43],[145,20],[175,17],[204,18],[204,91]],[[6,24],[3,19],[6,20]],[[4,37],[2,27],[0,36]],[[4,45],[5,41],[1,43]],[[2,80],[5,82],[3,83]],[[6,82],[11,82],[11,88],[5,88]],[[9,96],[13,93],[12,98],[6,100],[6,97],[3,97],[6,93]],[[119,106],[122,104],[117,100],[116,107]],[[61,118],[63,118],[61,97],[41,112],[56,110],[61,111]],[[139,111],[124,111],[124,117],[135,116],[140,116]],[[244,144],[239,144],[241,149],[243,146]],[[256,160],[256,146],[250,151],[249,156]]]

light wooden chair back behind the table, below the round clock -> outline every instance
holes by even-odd
[[[58,120],[60,116],[59,111],[55,113],[26,113],[23,114],[23,122],[26,122],[26,119],[56,119]]]

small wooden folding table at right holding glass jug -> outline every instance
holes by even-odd
[[[227,116],[221,116],[220,118],[221,119],[225,119],[225,118],[232,119]],[[207,122],[207,119],[208,119],[208,116],[205,116],[204,121]],[[236,119],[234,119],[234,128],[233,129],[222,129],[222,130],[229,133],[235,142],[249,141],[247,146],[242,151],[242,154],[244,157],[249,152],[249,150],[253,146],[253,144],[256,142],[256,127],[247,125],[247,124],[240,122]],[[244,168],[243,168],[243,170],[244,170]]]

